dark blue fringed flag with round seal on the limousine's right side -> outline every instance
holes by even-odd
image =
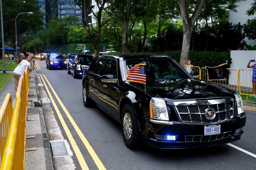
[[[212,80],[226,80],[227,78],[227,63],[218,65],[216,67],[207,67],[207,79],[208,81]]]

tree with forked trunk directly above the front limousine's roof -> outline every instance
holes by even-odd
[[[130,20],[130,13],[132,11],[133,0],[119,1],[119,0],[108,0],[114,12],[120,14],[122,19],[115,18],[114,15],[110,15],[110,12],[105,10],[108,16],[123,26],[123,44],[122,53],[128,52],[128,26]]]

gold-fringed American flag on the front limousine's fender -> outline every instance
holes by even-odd
[[[126,71],[128,72],[127,81],[146,85],[146,64],[136,64],[132,69]]]

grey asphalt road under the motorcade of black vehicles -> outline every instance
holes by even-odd
[[[163,150],[143,145],[139,150],[130,150],[124,144],[121,126],[118,122],[98,107],[84,107],[81,79],[74,79],[67,74],[67,70],[46,69],[45,60],[36,61],[41,68],[36,72],[44,74],[49,80],[106,169],[256,169],[256,158],[227,144],[183,150]],[[56,100],[54,96],[53,98]],[[59,103],[57,106],[89,169],[97,169],[92,156]],[[256,154],[256,112],[248,110],[245,112],[247,121],[244,134],[241,140],[232,144]],[[57,115],[56,118],[59,121]],[[60,121],[58,123],[61,127]],[[61,130],[65,136],[62,127]],[[81,169],[76,157],[74,157],[74,162],[77,169]]]

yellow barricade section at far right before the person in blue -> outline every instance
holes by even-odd
[[[254,83],[254,78],[252,78],[252,69],[244,69],[240,70],[240,86],[239,86],[239,92],[240,94],[247,95],[248,96],[256,96],[256,87],[252,84]],[[255,78],[256,81],[256,78]],[[254,83],[256,85],[256,83]]]

